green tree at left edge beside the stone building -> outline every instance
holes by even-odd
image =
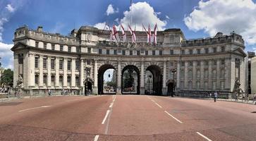
[[[13,71],[11,71],[11,69],[4,70],[1,75],[0,83],[13,86]]]

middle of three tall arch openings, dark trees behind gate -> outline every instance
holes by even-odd
[[[140,94],[140,71],[136,66],[126,66],[122,71],[122,94]]]

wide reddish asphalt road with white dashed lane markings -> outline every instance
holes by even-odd
[[[0,103],[0,140],[256,140],[256,106],[106,95]]]

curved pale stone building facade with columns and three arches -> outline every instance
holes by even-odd
[[[84,94],[85,87],[99,94],[104,71],[114,68],[116,94],[122,94],[122,73],[133,67],[138,72],[139,94],[145,94],[146,71],[152,72],[153,89],[161,95],[169,93],[169,82],[181,95],[231,94],[236,78],[245,90],[245,43],[236,33],[187,40],[180,29],[168,29],[158,32],[154,45],[147,44],[145,32],[136,32],[136,44],[127,35],[128,42],[117,43],[109,41],[109,31],[89,26],[72,30],[70,36],[43,32],[42,27],[20,27],[13,39],[13,84],[22,75],[24,89],[33,94],[47,89]]]

